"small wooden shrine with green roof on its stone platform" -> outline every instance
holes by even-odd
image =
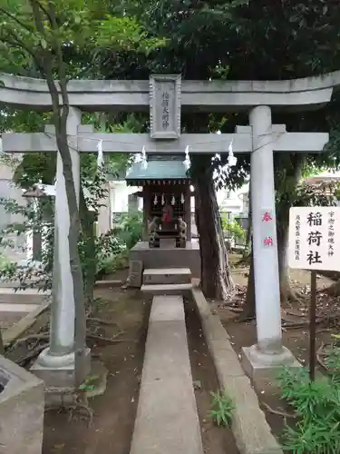
[[[149,154],[147,163],[133,163],[126,182],[140,186],[143,238],[130,260],[143,268],[189,268],[200,275],[199,243],[191,239],[190,179],[182,155]]]

